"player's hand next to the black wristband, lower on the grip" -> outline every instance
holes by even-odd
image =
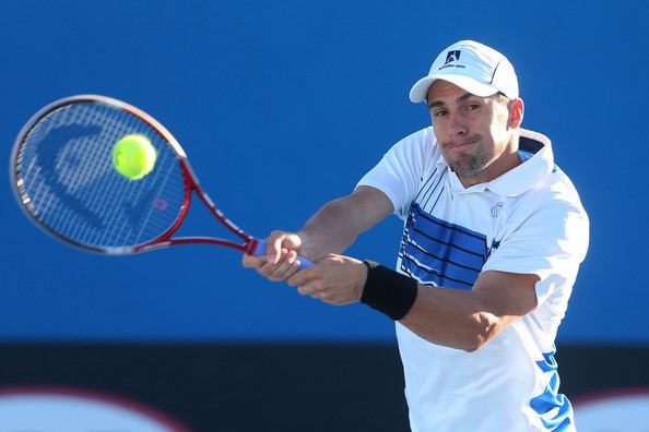
[[[353,257],[328,254],[316,265],[297,272],[287,280],[297,292],[329,304],[351,304],[361,300],[367,279],[367,267]]]

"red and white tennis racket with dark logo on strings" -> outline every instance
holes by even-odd
[[[113,165],[113,147],[130,134],[145,135],[157,153],[153,170],[128,179]],[[84,251],[126,255],[176,244],[206,243],[266,254],[266,242],[214,205],[176,139],[153,117],[97,95],[57,100],[23,127],[11,156],[11,182],[21,207],[55,238]],[[237,241],[174,237],[193,195]],[[299,269],[312,264],[299,257]]]

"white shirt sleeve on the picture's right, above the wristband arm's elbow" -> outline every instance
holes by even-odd
[[[553,197],[542,203],[492,250],[483,271],[535,274],[539,304],[556,287],[570,286],[589,243],[589,220],[579,203]]]

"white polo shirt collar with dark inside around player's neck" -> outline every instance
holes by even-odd
[[[516,196],[531,189],[554,169],[554,154],[550,139],[542,133],[520,129],[519,151],[531,153],[532,157],[494,180],[464,188],[455,171],[449,169],[451,187],[464,193],[489,190],[502,196]],[[440,155],[438,170],[449,168]]]

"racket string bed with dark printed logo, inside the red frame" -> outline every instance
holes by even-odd
[[[128,134],[146,135],[157,152],[154,170],[128,180],[111,152]],[[128,248],[158,237],[177,219],[185,181],[177,155],[137,116],[92,101],[49,112],[26,134],[16,168],[21,199],[43,225],[91,248]]]

